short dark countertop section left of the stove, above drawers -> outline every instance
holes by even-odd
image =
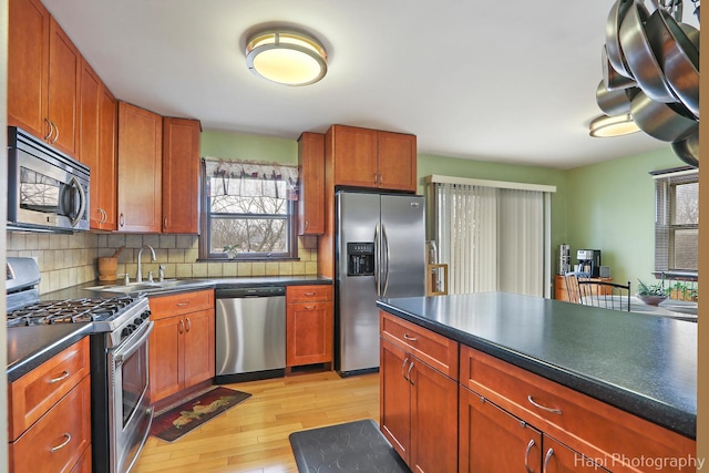
[[[82,325],[73,325],[66,323],[60,329],[56,329],[59,326],[43,326],[45,332],[56,331],[55,336],[51,333],[45,335],[44,338],[48,339],[47,345],[39,346],[37,349],[30,349],[29,352],[22,353],[21,357],[12,357],[10,358],[10,353],[8,353],[8,382],[17,381],[22,378],[24,374],[32,371],[34,368],[42,364],[44,361],[49,360],[56,353],[60,353],[62,350],[71,347],[82,338],[89,336],[93,331],[92,323],[82,323]],[[73,327],[74,330],[65,330],[64,328]],[[8,341],[13,338],[13,332],[18,333],[16,330],[24,330],[31,331],[34,327],[18,327],[18,328],[9,328],[8,329]]]

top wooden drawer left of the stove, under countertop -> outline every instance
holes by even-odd
[[[89,338],[84,338],[9,384],[9,440],[20,436],[89,372]]]

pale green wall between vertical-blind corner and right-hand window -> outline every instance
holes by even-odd
[[[567,241],[576,249],[600,249],[614,280],[654,280],[655,181],[648,173],[684,165],[667,146],[567,172]]]

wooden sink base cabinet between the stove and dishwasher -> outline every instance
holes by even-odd
[[[214,291],[151,298],[151,402],[214,377]]]

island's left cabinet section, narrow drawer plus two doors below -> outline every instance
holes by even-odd
[[[421,327],[400,331],[397,322],[403,321],[381,312],[381,431],[413,471],[456,471],[458,382],[438,367],[449,371],[458,343],[441,350],[436,333]]]

